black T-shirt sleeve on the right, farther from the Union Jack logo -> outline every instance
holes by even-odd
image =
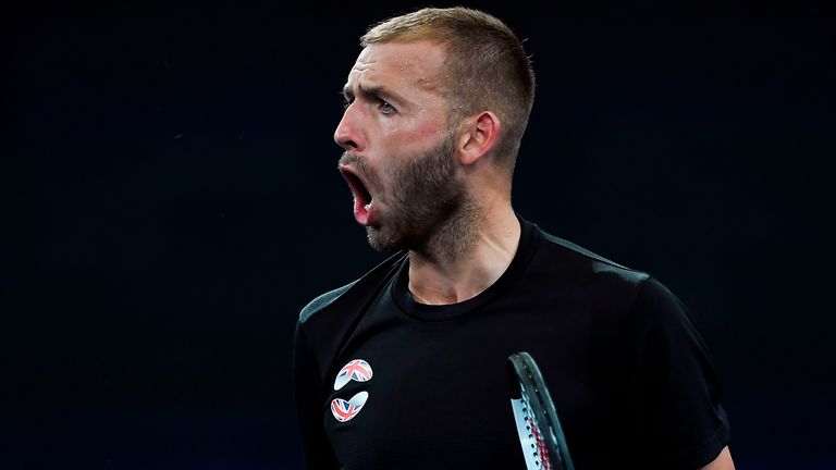
[[[721,382],[683,302],[654,279],[632,307],[637,445],[643,468],[698,469],[728,444]]]

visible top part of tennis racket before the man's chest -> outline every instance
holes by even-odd
[[[575,470],[557,411],[534,358],[508,357],[511,407],[528,470]]]

